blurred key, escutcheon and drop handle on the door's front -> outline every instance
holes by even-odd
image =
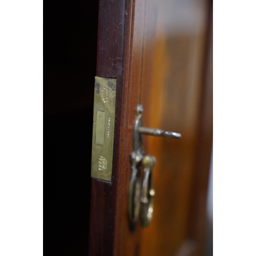
[[[181,138],[180,133],[167,132],[160,129],[143,127],[143,106],[137,106],[137,117],[133,130],[133,152],[130,155],[131,178],[129,183],[129,219],[131,229],[134,230],[139,216],[142,227],[147,227],[153,218],[153,201],[155,189],[153,185],[153,167],[156,163],[155,157],[144,156],[142,135],[163,136],[170,138]],[[141,181],[141,172],[143,178]]]

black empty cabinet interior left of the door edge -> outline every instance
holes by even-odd
[[[87,255],[98,1],[44,3],[44,255]]]

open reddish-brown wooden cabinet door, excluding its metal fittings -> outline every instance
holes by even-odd
[[[90,255],[202,255],[212,142],[212,3],[99,1],[96,76],[117,79],[112,181],[92,179]],[[154,216],[131,230],[133,127],[153,155]]]

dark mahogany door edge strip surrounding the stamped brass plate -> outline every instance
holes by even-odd
[[[92,180],[90,255],[114,255],[120,242],[120,204],[126,118],[124,78],[129,67],[132,2],[100,0],[98,19],[97,71],[100,77],[117,79],[112,182]],[[90,170],[88,170],[90,172]]]

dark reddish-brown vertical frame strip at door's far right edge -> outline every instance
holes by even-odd
[[[200,113],[198,115],[196,164],[190,200],[188,236],[197,241],[197,248],[193,256],[204,253],[206,238],[206,196],[212,150],[213,126],[213,41],[212,41],[212,2],[209,4],[207,41],[204,55],[204,68],[202,74]]]

